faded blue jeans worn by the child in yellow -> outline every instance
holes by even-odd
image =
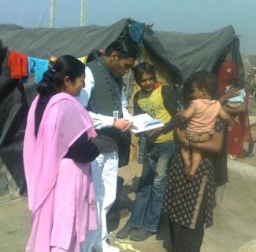
[[[144,228],[149,232],[158,231],[167,168],[174,151],[174,141],[150,145],[143,163],[143,172],[135,195],[135,206],[127,222],[128,225]]]

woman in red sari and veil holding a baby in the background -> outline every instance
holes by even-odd
[[[228,158],[243,158],[243,142],[251,142],[247,105],[248,93],[234,62],[224,62],[218,72],[220,102],[236,124],[228,127]]]

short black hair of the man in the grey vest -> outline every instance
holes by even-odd
[[[105,55],[110,56],[113,51],[117,51],[120,59],[139,57],[139,46],[130,37],[117,38],[106,48]]]

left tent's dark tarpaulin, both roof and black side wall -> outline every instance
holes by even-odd
[[[83,57],[90,53],[91,49],[106,49],[106,46],[119,36],[128,35],[129,25],[134,23],[134,20],[124,19],[109,27],[90,25],[64,28],[24,28],[13,24],[2,24],[0,25],[0,40],[4,46],[8,46],[9,50],[20,51],[28,57],[48,58],[51,55],[58,57],[64,54]],[[143,46],[147,46],[154,57],[166,65],[172,72],[174,82],[181,82],[179,66],[175,64],[172,56],[166,52],[151,29],[145,31]],[[13,89],[2,97],[0,103],[2,108],[0,115],[0,139],[2,139],[0,158],[14,177],[20,192],[24,192],[22,143],[28,104],[35,97],[35,85],[33,78],[29,78],[28,83],[24,86],[18,79],[10,79],[7,57],[4,63],[0,76],[0,88],[1,90],[9,89],[9,82],[13,82]],[[21,88],[22,91],[20,91]],[[14,98],[14,96],[17,97],[17,94],[20,95],[21,101]],[[8,181],[7,183],[4,181],[2,184],[8,184]]]

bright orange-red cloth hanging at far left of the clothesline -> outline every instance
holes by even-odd
[[[9,51],[8,67],[12,79],[28,76],[28,57],[13,50]]]

